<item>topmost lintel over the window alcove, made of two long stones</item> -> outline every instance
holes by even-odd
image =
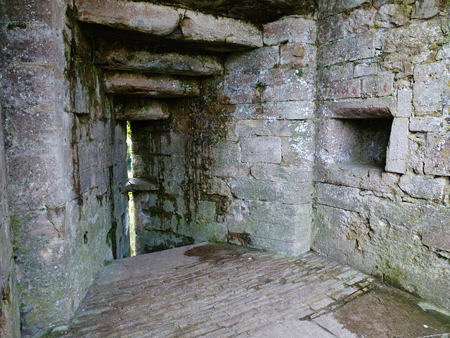
[[[76,0],[78,20],[108,27],[148,33],[201,48],[224,51],[224,46],[242,49],[263,45],[262,30],[252,23],[217,17],[148,2],[124,0]]]

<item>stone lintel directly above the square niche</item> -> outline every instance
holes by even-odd
[[[370,98],[333,102],[328,107],[331,118],[392,118],[394,98]]]

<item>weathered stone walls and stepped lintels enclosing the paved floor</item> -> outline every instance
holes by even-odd
[[[449,11],[0,0],[1,337],[70,318],[105,262],[208,241],[449,309]]]

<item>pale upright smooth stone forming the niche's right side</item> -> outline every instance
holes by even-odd
[[[404,174],[408,157],[409,118],[394,118],[387,146],[386,171]]]

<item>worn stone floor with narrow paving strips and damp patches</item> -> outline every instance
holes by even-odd
[[[450,313],[317,253],[185,246],[108,265],[45,337],[442,337]]]

